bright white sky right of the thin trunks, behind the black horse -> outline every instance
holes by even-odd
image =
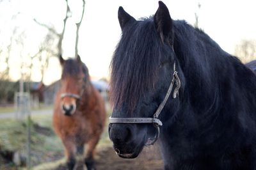
[[[79,53],[90,67],[92,75],[108,76],[108,66],[115,45],[120,38],[117,19],[118,6],[135,19],[156,12],[158,1],[86,1],[86,13],[81,28]],[[198,1],[163,1],[172,19],[184,19],[195,23]],[[244,38],[256,39],[256,1],[199,1],[201,4],[199,26],[229,53]],[[100,69],[100,70],[99,70]]]

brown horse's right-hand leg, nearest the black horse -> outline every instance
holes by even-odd
[[[84,163],[88,170],[95,169],[94,166],[94,154],[95,147],[99,142],[99,135],[95,135],[88,143],[86,144],[86,153]]]

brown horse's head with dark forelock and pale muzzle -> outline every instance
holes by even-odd
[[[61,75],[61,111],[66,116],[74,114],[78,101],[86,88],[88,82],[88,68],[82,63],[80,56],[76,59],[63,59],[60,55],[62,66]]]

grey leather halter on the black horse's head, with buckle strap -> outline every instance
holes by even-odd
[[[161,111],[164,108],[164,105],[166,104],[168,98],[170,97],[170,94],[172,93],[172,88],[173,88],[173,84],[175,84],[175,89],[173,89],[173,94],[172,94],[172,98],[176,98],[177,95],[179,95],[179,89],[180,89],[180,79],[178,76],[178,72],[175,70],[175,62],[173,63],[173,78],[172,78],[172,82],[168,88],[168,91],[164,97],[163,102],[161,102],[161,104],[159,105],[159,107],[157,108],[156,112],[153,115],[153,118],[112,118],[109,117],[109,123],[152,123],[154,125],[154,127],[157,128],[157,134],[154,136],[153,139],[151,139],[152,141],[146,145],[152,145],[154,143],[156,143],[159,134],[160,134],[160,128],[163,123],[161,120],[159,120],[159,114],[161,113]]]

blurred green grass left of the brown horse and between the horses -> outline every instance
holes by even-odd
[[[110,111],[108,111],[110,114]],[[53,169],[65,162],[63,144],[52,129],[52,116],[32,115],[31,117],[31,164],[32,169]],[[108,122],[102,134],[98,148],[110,146],[108,139]],[[19,151],[26,157],[27,154],[27,120],[1,119],[0,120],[0,151]],[[19,169],[12,162],[1,159],[0,169]]]

